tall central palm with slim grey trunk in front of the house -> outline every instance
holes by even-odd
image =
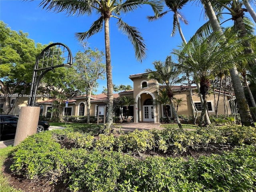
[[[118,29],[128,36],[133,44],[136,59],[142,62],[142,59],[146,57],[146,45],[144,40],[137,28],[126,24],[120,16],[121,14],[127,14],[128,12],[134,11],[144,4],[150,5],[156,15],[163,9],[163,4],[160,0],[42,0],[39,4],[43,9],[49,11],[52,10],[54,12],[66,12],[68,16],[83,16],[86,14],[90,16],[93,12],[96,12],[99,15],[99,18],[93,22],[88,31],[76,33],[76,37],[78,40],[83,41],[102,31],[104,26],[108,89],[107,128],[110,128],[113,123],[113,82],[110,56],[109,20],[110,18],[118,19]]]

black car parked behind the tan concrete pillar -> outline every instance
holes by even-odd
[[[18,116],[0,115],[0,140],[13,139],[15,137],[17,124]],[[37,132],[48,130],[49,126],[48,122],[39,121]]]

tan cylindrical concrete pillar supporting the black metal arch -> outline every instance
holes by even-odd
[[[23,106],[20,108],[20,115],[17,124],[14,145],[18,145],[27,136],[37,132],[40,107]]]

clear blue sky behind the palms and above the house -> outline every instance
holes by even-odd
[[[0,20],[8,24],[15,31],[22,30],[29,34],[28,38],[36,43],[49,44],[50,42],[62,42],[72,51],[73,57],[78,50],[82,50],[78,40],[74,37],[76,32],[87,31],[98,15],[66,16],[63,13],[46,12],[38,7],[40,1],[0,0]],[[255,6],[254,6],[255,8]],[[167,8],[165,8],[167,10]],[[254,9],[255,10],[255,9]],[[188,41],[196,30],[206,22],[200,4],[190,3],[181,12],[189,24],[181,23],[182,31]],[[150,6],[142,6],[136,12],[123,15],[122,20],[130,26],[136,26],[142,33],[147,45],[147,58],[142,63],[135,59],[134,49],[127,36],[118,31],[116,19],[110,19],[110,50],[112,61],[113,83],[130,84],[128,78],[131,74],[145,72],[146,68],[153,68],[155,60],[164,61],[173,48],[177,48],[182,42],[178,32],[171,37],[173,13],[169,12],[161,20],[148,22],[146,16],[153,15]],[[250,17],[248,13],[247,16]],[[232,22],[228,23],[229,26]],[[91,48],[105,51],[104,30],[88,39]],[[98,81],[98,93],[106,87],[106,80]]]

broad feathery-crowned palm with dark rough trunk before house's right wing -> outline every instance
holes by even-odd
[[[214,79],[213,74],[218,70],[218,64],[221,63],[222,67],[230,68],[234,63],[234,58],[237,57],[237,53],[241,53],[238,42],[236,44],[230,43],[230,46],[222,45],[222,38],[216,34],[202,38],[200,41],[189,42],[183,46],[182,50],[174,50],[174,54],[180,58],[180,62],[190,66],[200,81],[203,106],[198,126],[202,126],[207,109],[206,97],[210,90],[210,80]]]

